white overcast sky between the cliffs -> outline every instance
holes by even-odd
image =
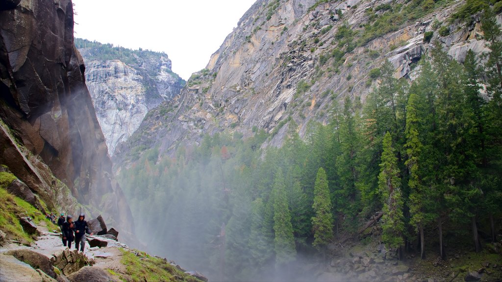
[[[73,0],[75,37],[165,52],[187,80],[256,0]]]

